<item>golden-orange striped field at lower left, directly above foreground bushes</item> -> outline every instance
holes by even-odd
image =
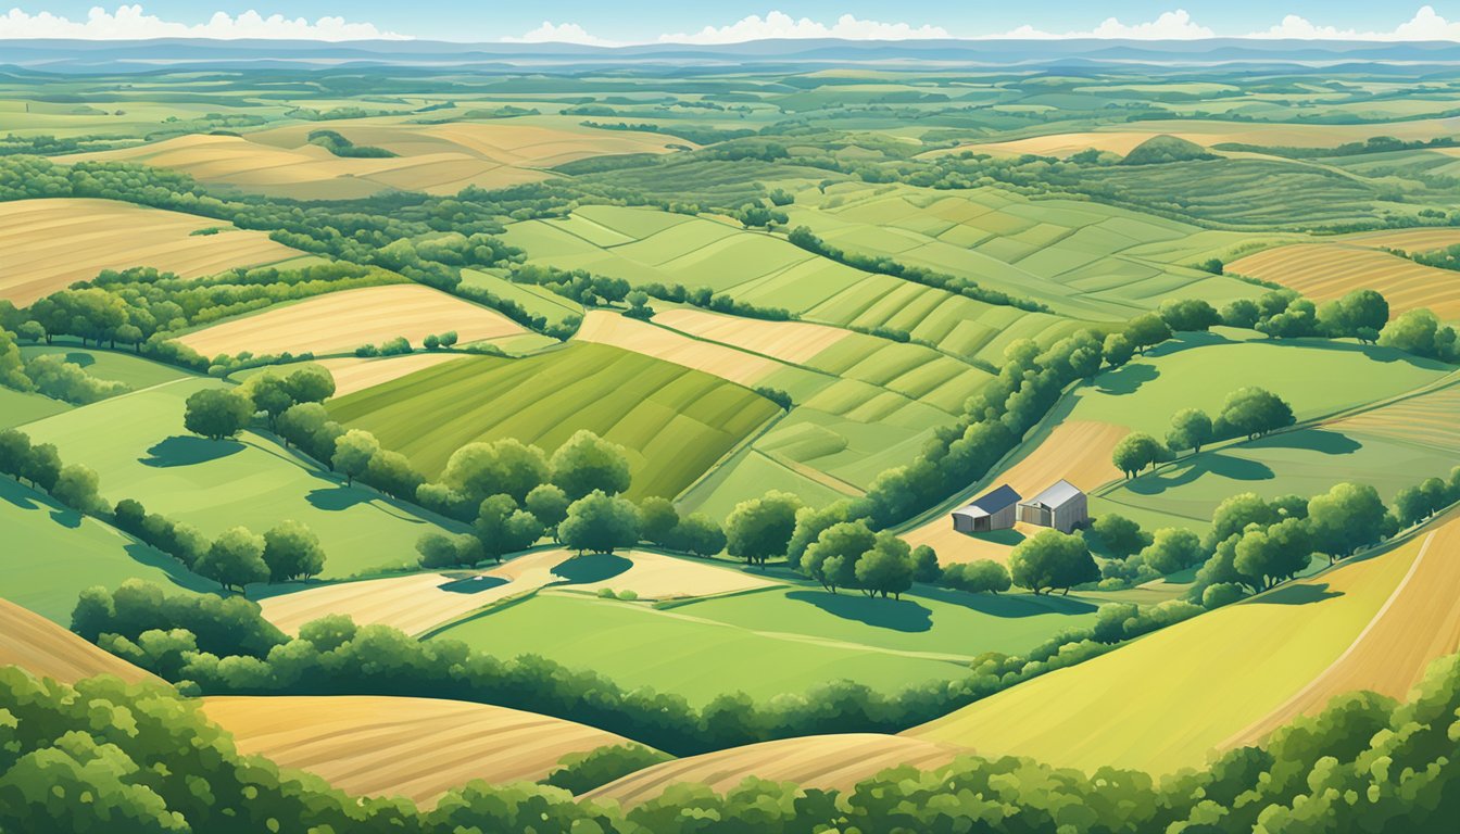
[[[566,754],[626,742],[562,719],[435,698],[213,697],[203,713],[244,754],[350,795],[425,806],[472,780],[536,781]]]

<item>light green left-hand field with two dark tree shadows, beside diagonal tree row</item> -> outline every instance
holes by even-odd
[[[178,380],[28,424],[23,431],[35,443],[54,443],[61,460],[95,469],[108,501],[134,498],[206,535],[238,524],[263,533],[288,519],[308,524],[328,556],[324,577],[415,562],[416,539],[435,527],[419,510],[368,488],[347,488],[253,432],[237,441],[184,432],[187,396],[219,384]]]

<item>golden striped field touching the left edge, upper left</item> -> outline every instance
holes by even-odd
[[[223,229],[193,235],[197,229]],[[298,257],[264,232],[114,200],[0,203],[0,298],[26,305],[104,269],[153,266],[200,278]]]

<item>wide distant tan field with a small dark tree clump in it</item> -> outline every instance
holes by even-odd
[[[317,123],[247,136],[181,136],[164,142],[83,153],[66,162],[142,162],[171,168],[215,185],[299,200],[345,200],[387,188],[456,194],[461,188],[505,188],[548,180],[555,165],[615,153],[669,153],[666,137],[632,131],[529,124],[403,124],[391,118],[326,126],[361,146],[396,156],[342,158],[310,145]]]

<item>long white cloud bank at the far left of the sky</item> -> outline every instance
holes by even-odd
[[[146,38],[270,38],[291,41],[365,41],[404,39],[394,32],[383,32],[372,23],[350,23],[345,18],[320,18],[310,22],[304,18],[285,18],[248,10],[232,18],[215,12],[206,23],[181,23],[147,15],[140,4],[118,6],[107,12],[93,6],[85,20],[70,20],[50,12],[31,15],[22,9],[10,9],[0,15],[0,38],[83,38],[93,41],[130,41]]]

